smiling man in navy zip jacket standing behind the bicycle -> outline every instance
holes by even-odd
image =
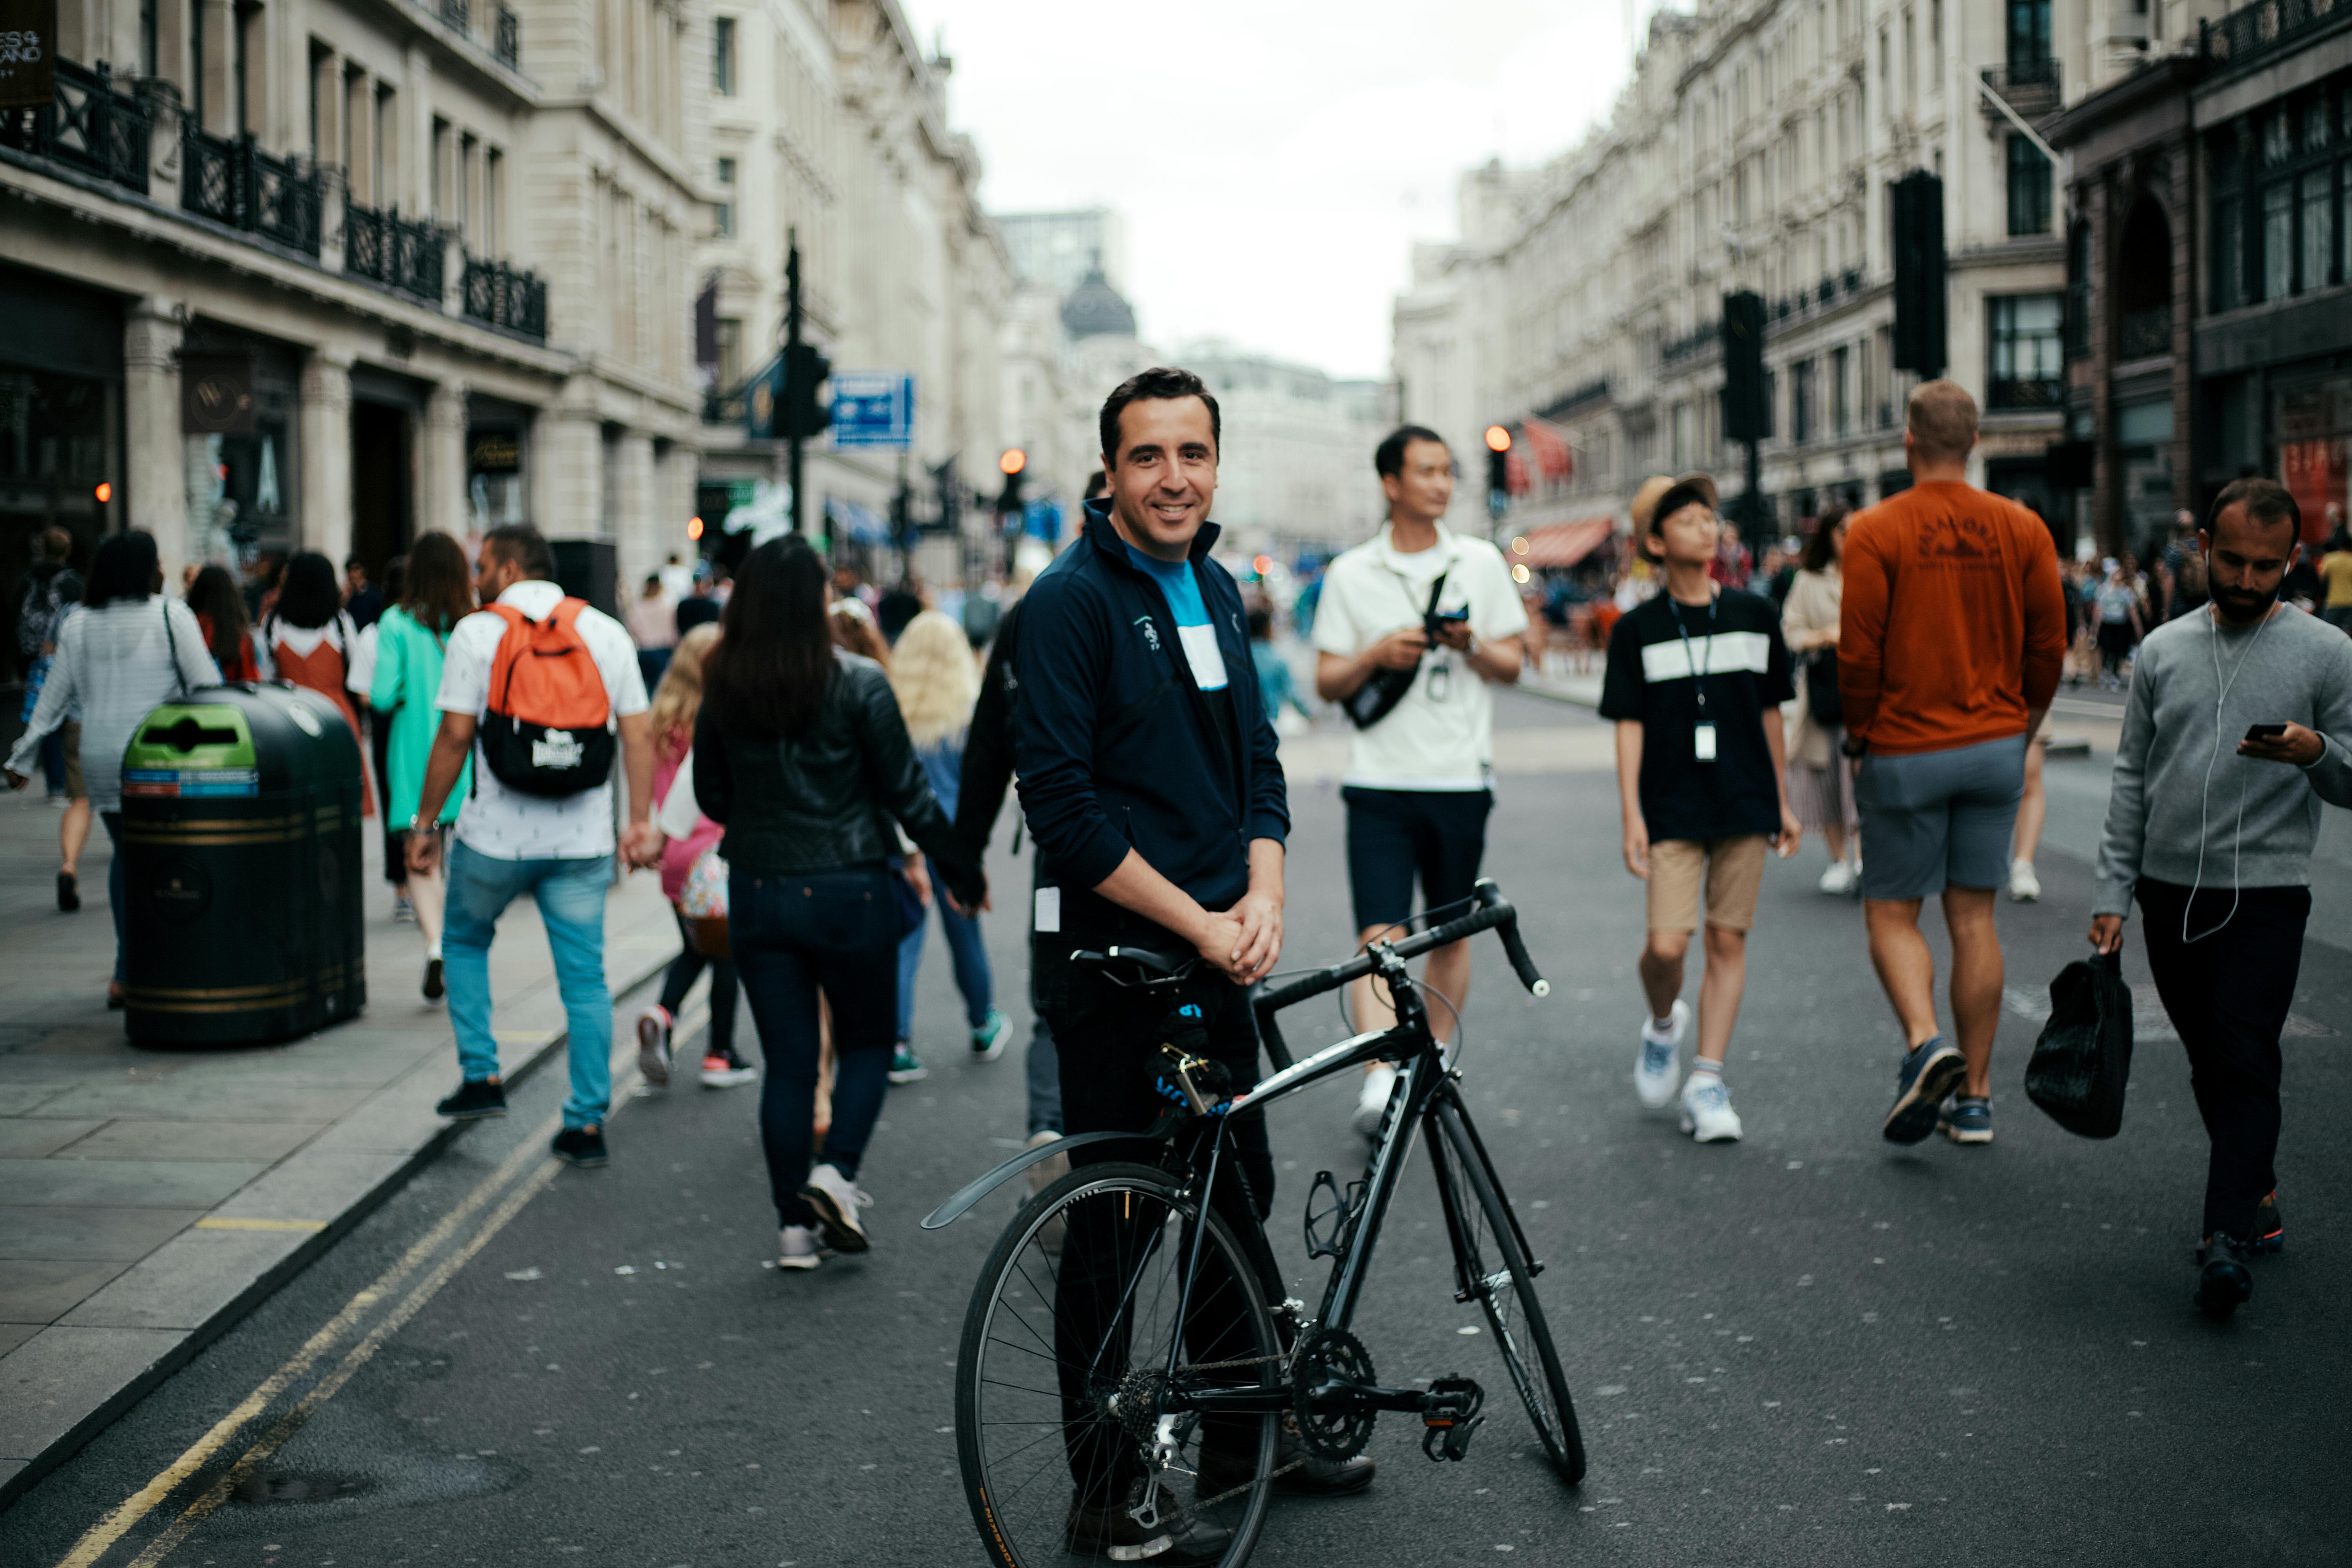
[[[1282,856],[1289,799],[1275,726],[1249,679],[1242,595],[1209,559],[1216,524],[1218,409],[1181,369],[1124,381],[1101,411],[1105,501],[1087,503],[1080,541],[1030,588],[1021,609],[1016,675],[1016,773],[1021,809],[1037,839],[1040,886],[1030,914],[1037,1004],[1061,1048],[1068,1133],[1143,1133],[1160,1117],[1155,1053],[1169,1037],[1164,994],[1129,992],[1073,961],[1077,950],[1148,947],[1200,954],[1207,978],[1185,987],[1188,1027],[1230,1086],[1258,1077],[1258,1039],[1247,985],[1282,952]],[[1237,677],[1235,677],[1237,672]],[[1134,1152],[1089,1145],[1073,1164]],[[1275,1168],[1263,1119],[1232,1128],[1235,1180],[1211,1201],[1237,1229],[1265,1218]],[[1115,1272],[1115,1234],[1073,1220],[1056,1281],[1063,1410],[1070,1422],[1075,1497],[1068,1547],[1077,1556],[1145,1547],[1162,1563],[1214,1563],[1225,1530],[1176,1514],[1157,1497],[1131,1446],[1105,1439],[1084,1401],[1073,1345],[1101,1342],[1112,1305],[1101,1281]],[[1268,1281],[1279,1286],[1279,1281]],[[1218,1324],[1190,1321],[1200,1356],[1216,1356]],[[1200,1453],[1200,1495],[1256,1469],[1251,1450],[1221,1450],[1211,1429]],[[1277,1460],[1294,1458],[1289,1439]],[[1305,1460],[1284,1490],[1345,1493],[1371,1481],[1369,1460]],[[1164,1490],[1164,1488],[1160,1488]]]

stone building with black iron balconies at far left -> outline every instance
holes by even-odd
[[[532,522],[572,571],[654,564],[706,38],[701,0],[64,0],[54,101],[0,115],[0,550],[381,571]]]

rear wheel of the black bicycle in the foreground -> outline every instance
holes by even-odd
[[[955,1448],[1000,1568],[1249,1559],[1277,1415],[1160,1410],[1178,1338],[1178,1389],[1284,1382],[1272,1312],[1218,1213],[1192,1309],[1178,1312],[1200,1225],[1164,1171],[1098,1164],[1023,1204],[990,1251],[955,1363]],[[1204,1556],[1218,1533],[1223,1554]],[[1155,1547],[1162,1535],[1176,1544]]]

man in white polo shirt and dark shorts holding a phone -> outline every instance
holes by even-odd
[[[1388,527],[1331,562],[1315,607],[1315,691],[1327,703],[1369,715],[1376,703],[1367,705],[1367,686],[1411,679],[1385,715],[1357,729],[1341,790],[1359,943],[1399,933],[1414,910],[1416,877],[1423,910],[1470,896],[1494,806],[1486,686],[1519,679],[1526,630],[1503,552],[1437,522],[1454,503],[1454,454],[1444,440],[1404,425],[1381,442],[1371,465],[1388,496]],[[1423,625],[1432,614],[1435,639]],[[1425,980],[1463,1006],[1470,945],[1432,952]],[[1388,1004],[1357,983],[1355,1027],[1390,1023]],[[1381,1131],[1395,1077],[1381,1063],[1364,1072],[1355,1126],[1367,1138]]]

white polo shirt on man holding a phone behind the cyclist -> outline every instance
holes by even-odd
[[[1526,604],[1501,550],[1439,527],[1432,548],[1399,555],[1383,527],[1324,574],[1315,649],[1355,658],[1381,637],[1421,625],[1439,571],[1446,588],[1437,609],[1468,609],[1479,642],[1526,630]],[[1371,729],[1355,731],[1343,783],[1362,790],[1486,790],[1491,764],[1494,693],[1468,658],[1439,646],[1423,656],[1404,701]]]

